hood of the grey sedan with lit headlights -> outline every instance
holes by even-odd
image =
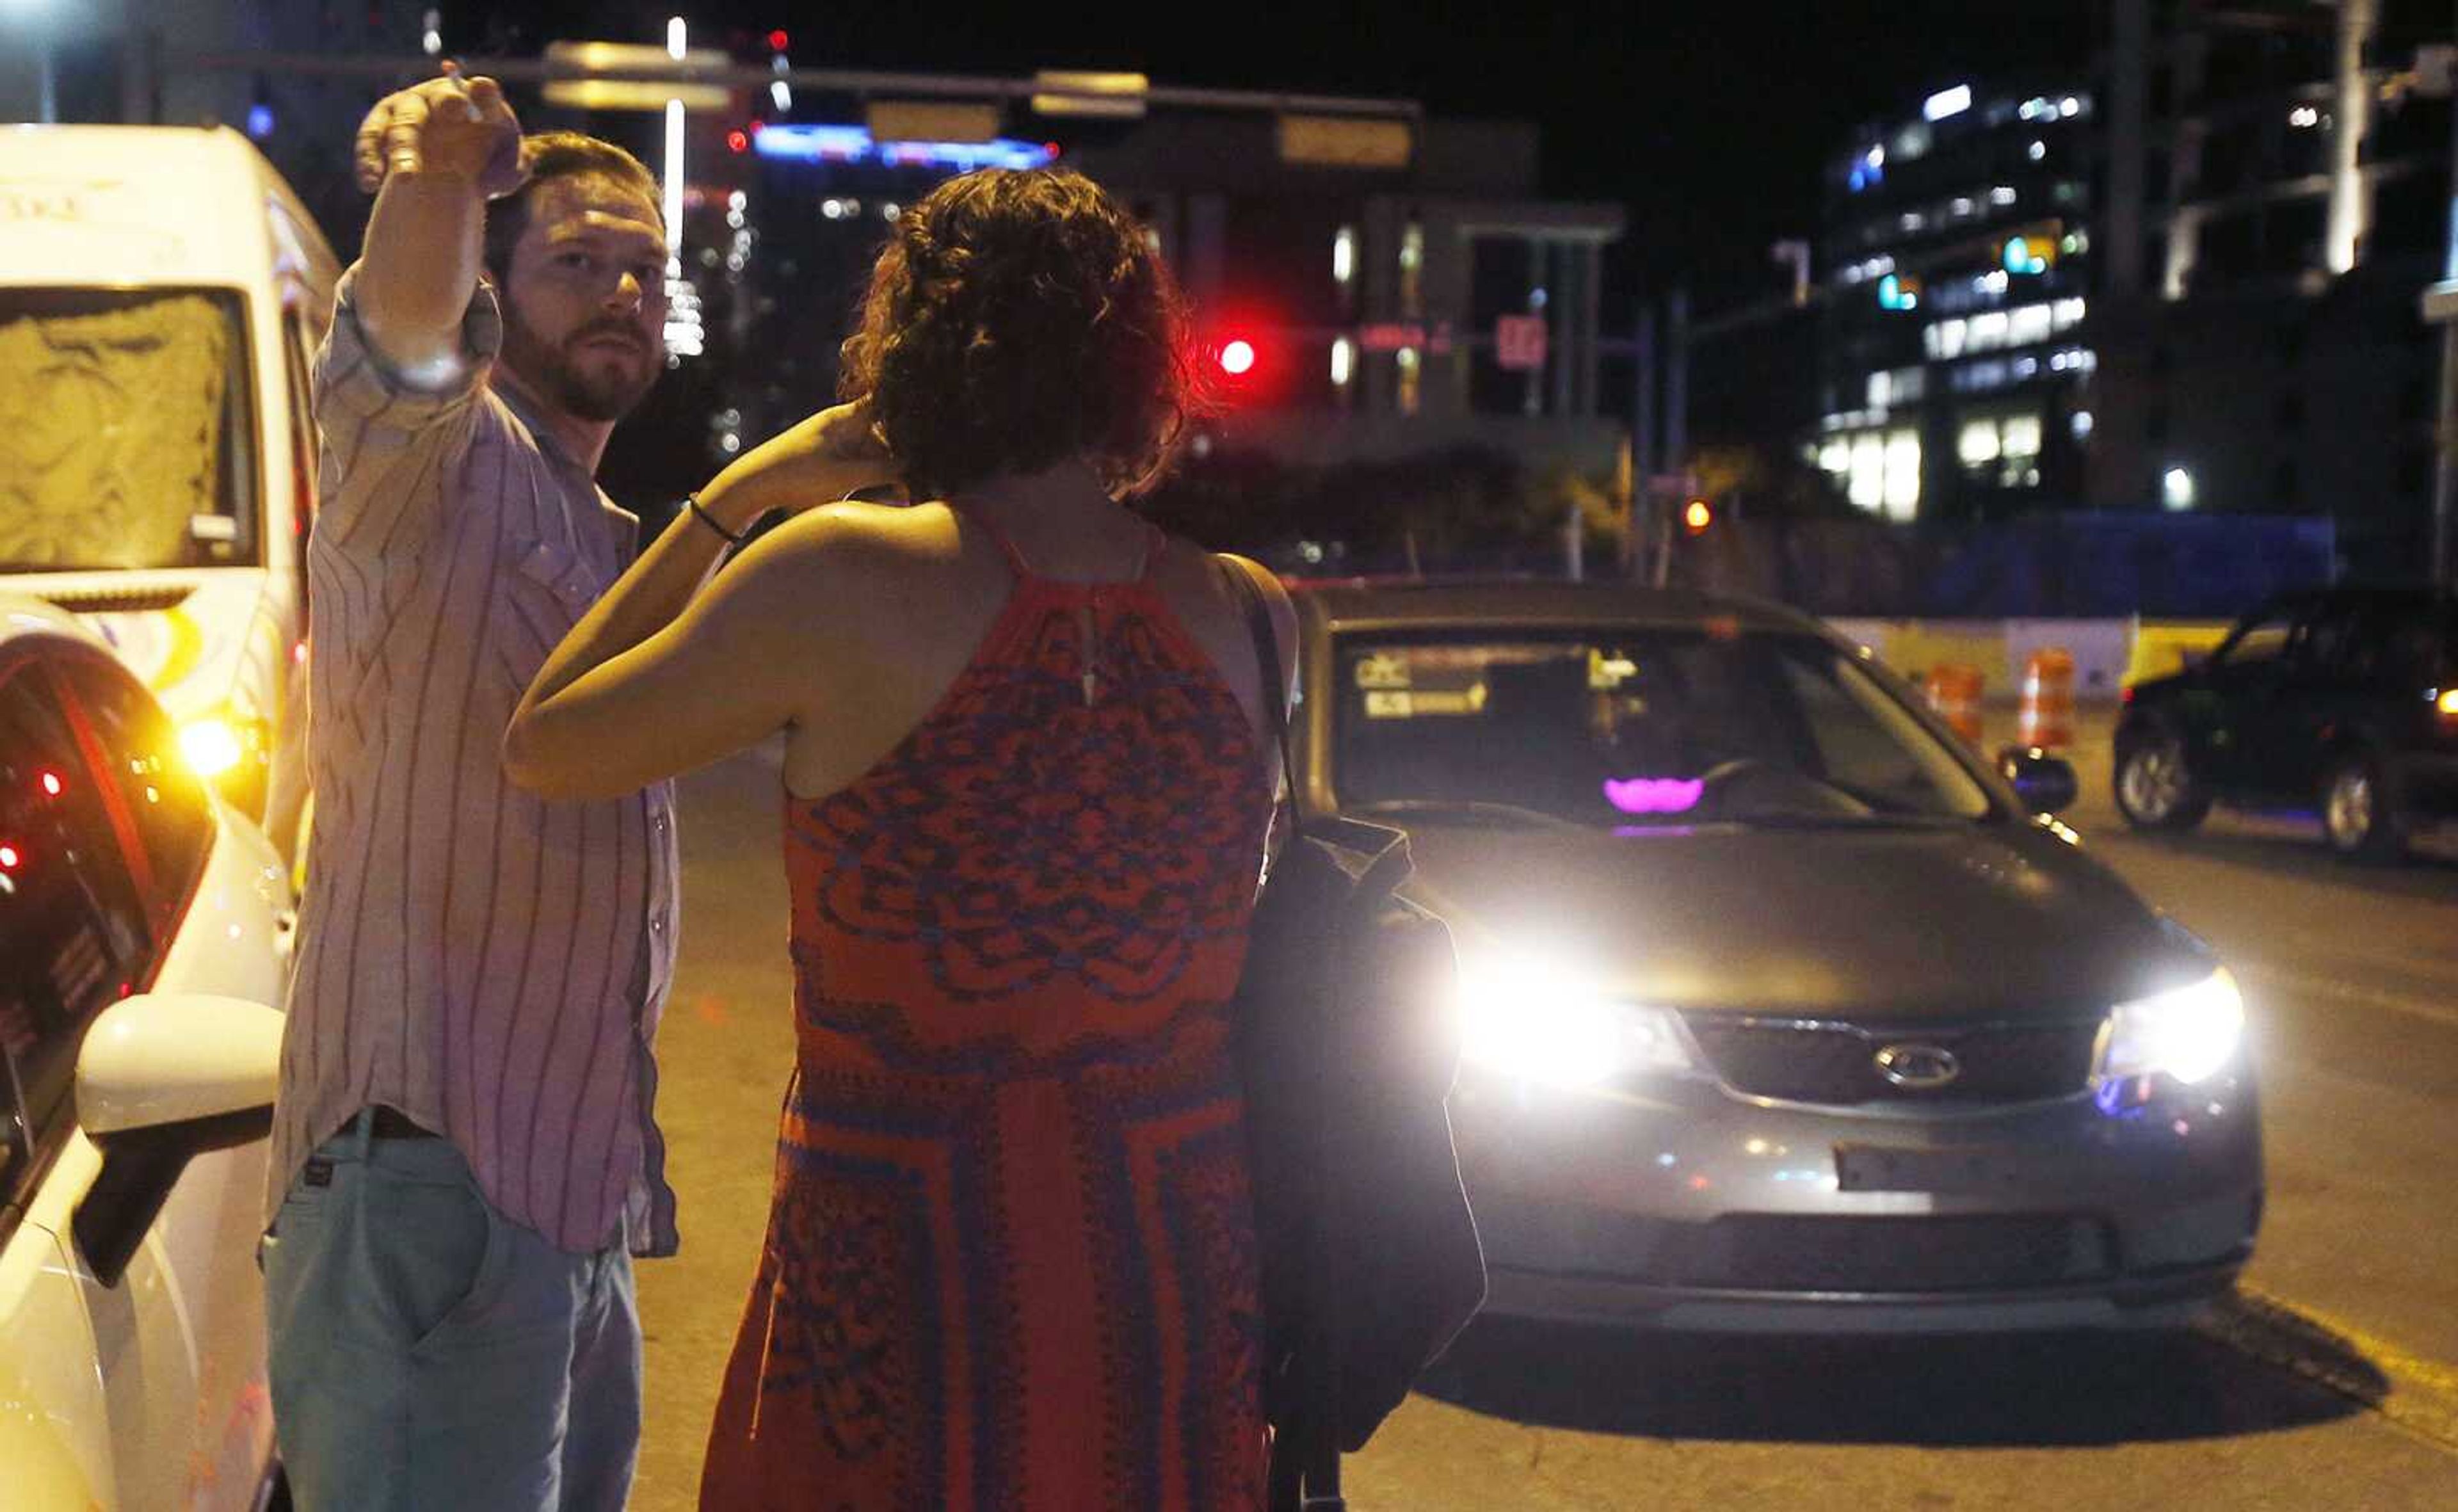
[[[1463,961],[1576,961],[1681,1010],[2008,1020],[2099,1010],[2210,971],[2114,873],[2043,826],[1504,831],[1413,826],[1411,897]]]

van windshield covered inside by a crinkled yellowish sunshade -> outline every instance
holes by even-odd
[[[0,288],[0,573],[256,561],[229,290]]]

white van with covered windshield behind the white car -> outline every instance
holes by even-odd
[[[86,620],[293,851],[332,248],[243,135],[0,125],[0,588]]]

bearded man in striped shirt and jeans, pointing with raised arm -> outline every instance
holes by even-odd
[[[315,369],[275,1426],[302,1512],[617,1512],[632,1256],[676,1246],[651,1119],[673,799],[543,801],[499,745],[634,551],[595,467],[664,364],[666,229],[634,157],[524,140],[450,71],[376,106],[359,172],[381,189]],[[725,546],[696,536],[661,553],[676,605]]]

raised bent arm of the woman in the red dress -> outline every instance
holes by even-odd
[[[701,506],[740,531],[885,472],[868,411],[838,406],[742,455]],[[504,733],[506,774],[556,799],[617,797],[782,730],[806,681],[777,642],[826,610],[814,558],[838,529],[811,519],[774,531],[710,580],[723,538],[676,516],[538,669]]]

